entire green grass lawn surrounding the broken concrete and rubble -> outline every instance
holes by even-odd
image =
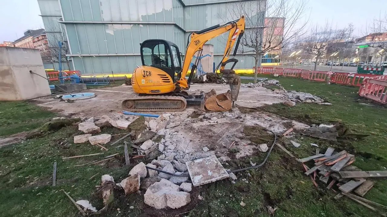
[[[269,76],[267,76],[269,77]],[[301,143],[295,148],[283,138],[279,143],[285,146],[296,157],[313,155],[315,147],[311,142],[325,151],[327,147],[336,150],[345,149],[356,156],[354,165],[362,170],[386,170],[387,167],[387,108],[378,105],[364,105],[359,100],[358,88],[340,85],[327,85],[295,78],[275,78],[286,90],[297,90],[312,93],[333,103],[332,106],[315,104],[298,104],[286,107],[282,104],[266,106],[263,109],[274,114],[301,120],[306,123],[341,122],[352,131],[370,134],[363,140],[345,140],[327,142],[310,137],[297,135],[295,139]],[[251,81],[247,81],[251,82]],[[24,130],[33,129],[44,120],[55,114],[45,112],[25,102],[0,102],[0,134],[2,136]],[[3,131],[6,131],[4,133]],[[7,131],[8,130],[8,131]],[[105,128],[103,133],[119,134],[124,130]],[[116,181],[127,176],[131,166],[122,166],[123,156],[106,166],[79,166],[89,161],[103,158],[69,159],[62,161],[63,156],[91,154],[101,152],[97,147],[87,144],[73,144],[72,138],[78,135],[76,126],[69,126],[45,137],[24,141],[21,144],[0,149],[0,210],[1,216],[80,216],[77,210],[64,195],[58,191],[65,189],[75,199],[90,200],[98,209],[102,208],[101,198],[96,193],[96,185],[100,184],[100,175],[110,174]],[[0,136],[1,136],[0,135]],[[114,137],[112,141],[118,139]],[[107,145],[109,151],[105,155],[123,153],[122,147]],[[251,158],[229,162],[228,168],[242,168],[253,162],[261,162],[265,153],[256,153]],[[58,162],[57,186],[51,186],[52,165]],[[96,173],[98,176],[89,180]],[[143,203],[142,195],[120,197],[114,209],[104,216],[271,216],[267,206],[276,207],[275,216],[378,216],[367,208],[347,198],[339,201],[333,199],[332,190],[327,190],[319,183],[316,188],[310,178],[302,172],[302,167],[281,149],[274,147],[267,163],[260,169],[244,171],[237,174],[236,184],[229,180],[193,188],[191,209],[154,211]],[[247,181],[242,181],[245,178]],[[374,179],[373,189],[365,198],[387,205],[387,181]],[[247,183],[248,182],[248,183]],[[337,190],[337,188],[335,188]],[[204,200],[197,200],[197,195]],[[245,206],[241,206],[241,202]],[[134,206],[135,209],[129,209]],[[116,208],[120,208],[118,212]],[[190,212],[187,212],[189,211]]]

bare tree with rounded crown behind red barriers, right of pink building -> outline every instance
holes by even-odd
[[[336,53],[340,50],[339,42],[343,42],[348,35],[348,28],[333,29],[332,25],[315,25],[310,28],[308,34],[303,39],[304,50],[308,54],[315,56],[314,70],[317,68],[317,62],[325,55]]]

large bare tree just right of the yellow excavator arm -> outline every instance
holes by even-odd
[[[233,17],[245,15],[246,28],[238,53],[252,56],[257,69],[261,66],[262,55],[280,54],[284,46],[293,44],[297,37],[302,36],[307,24],[307,21],[302,21],[305,4],[305,0],[240,1],[233,3],[226,12],[220,11],[219,18],[222,19],[224,14]],[[257,73],[255,70],[254,83],[257,82]]]

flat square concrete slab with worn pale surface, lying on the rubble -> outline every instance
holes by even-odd
[[[185,162],[194,186],[204,185],[229,177],[216,156]]]

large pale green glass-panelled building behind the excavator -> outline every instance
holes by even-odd
[[[237,19],[229,8],[238,2],[265,0],[38,0],[48,38],[65,38],[73,68],[82,74],[131,73],[141,64],[146,39],[174,42],[185,53],[191,32]],[[248,4],[244,4],[248,5]],[[265,7],[255,12],[264,23]],[[246,31],[248,31],[248,26]],[[262,28],[263,29],[263,28]],[[223,55],[224,36],[210,40],[214,62]],[[48,40],[50,42],[50,39]],[[252,68],[242,56],[235,68]]]

